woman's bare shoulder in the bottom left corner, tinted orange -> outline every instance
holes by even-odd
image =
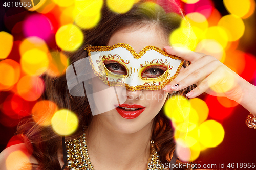
[[[0,153],[0,170],[26,169],[31,163],[38,163],[27,150],[25,143],[12,145]]]

